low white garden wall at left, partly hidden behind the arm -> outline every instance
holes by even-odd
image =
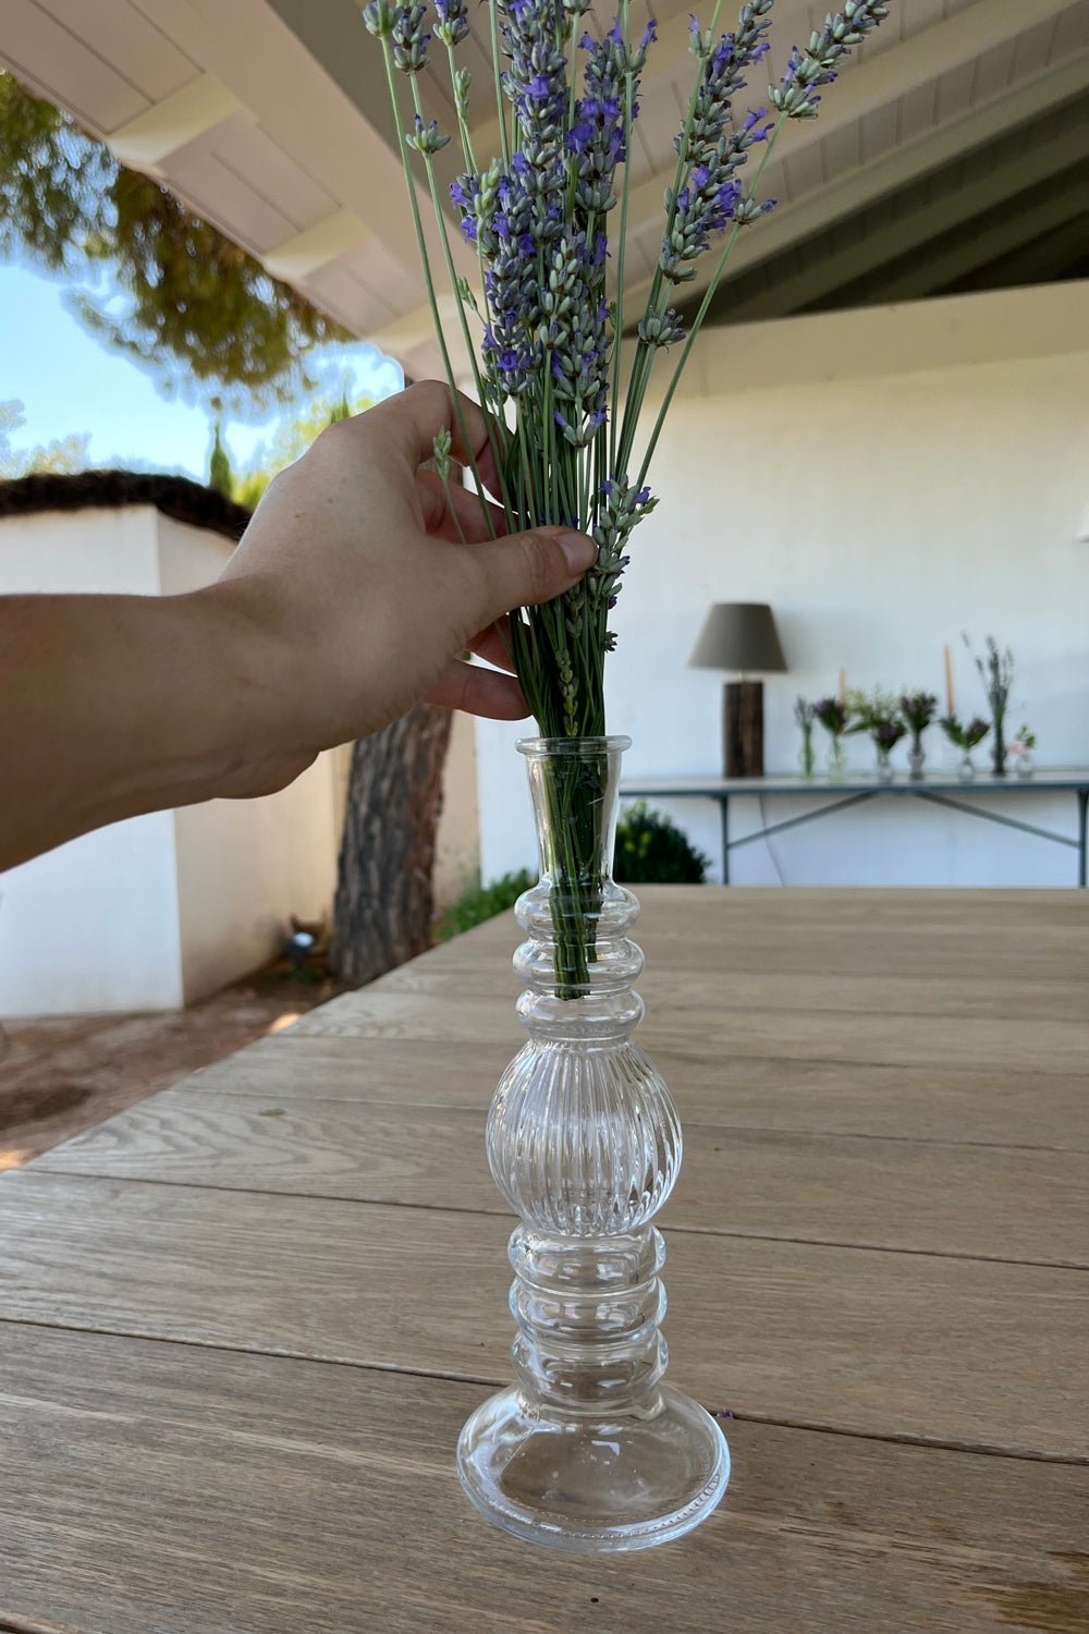
[[[220,534],[150,505],[0,521],[0,593],[180,593],[209,583]],[[0,1016],[163,1010],[247,974],[291,913],[330,912],[330,757],[261,801],[211,801],[83,835],[0,876]]]

